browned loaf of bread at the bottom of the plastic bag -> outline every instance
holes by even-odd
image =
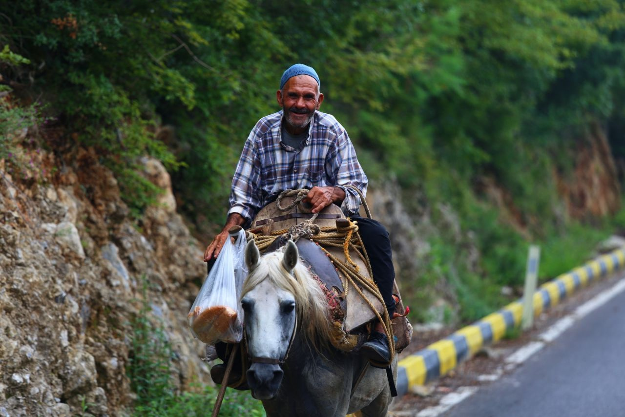
[[[236,311],[227,306],[212,306],[202,310],[199,306],[189,313],[191,329],[204,343],[229,341],[231,329],[236,326]]]

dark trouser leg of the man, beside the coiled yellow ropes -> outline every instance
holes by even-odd
[[[395,281],[395,268],[392,264],[391,239],[379,221],[354,214],[350,217],[358,222],[358,233],[369,256],[373,281],[382,294],[386,309],[392,318],[395,300],[392,298],[392,284]]]

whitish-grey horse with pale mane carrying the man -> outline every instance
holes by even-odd
[[[296,245],[262,256],[247,244],[241,294],[251,366],[247,383],[267,416],[385,416],[391,403],[384,369],[330,341],[327,301],[299,261]],[[397,359],[392,364],[397,379]],[[360,379],[358,381],[358,379]]]

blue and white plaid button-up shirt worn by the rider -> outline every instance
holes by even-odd
[[[252,220],[286,189],[339,186],[345,191],[341,209],[357,213],[367,192],[367,176],[346,130],[331,114],[315,111],[301,149],[283,143],[282,110],[260,119],[249,134],[237,165],[230,193],[230,213]]]

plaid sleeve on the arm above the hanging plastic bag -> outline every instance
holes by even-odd
[[[252,220],[261,209],[261,161],[254,143],[256,128],[252,129],[237,164],[230,190],[228,215],[239,213]]]

